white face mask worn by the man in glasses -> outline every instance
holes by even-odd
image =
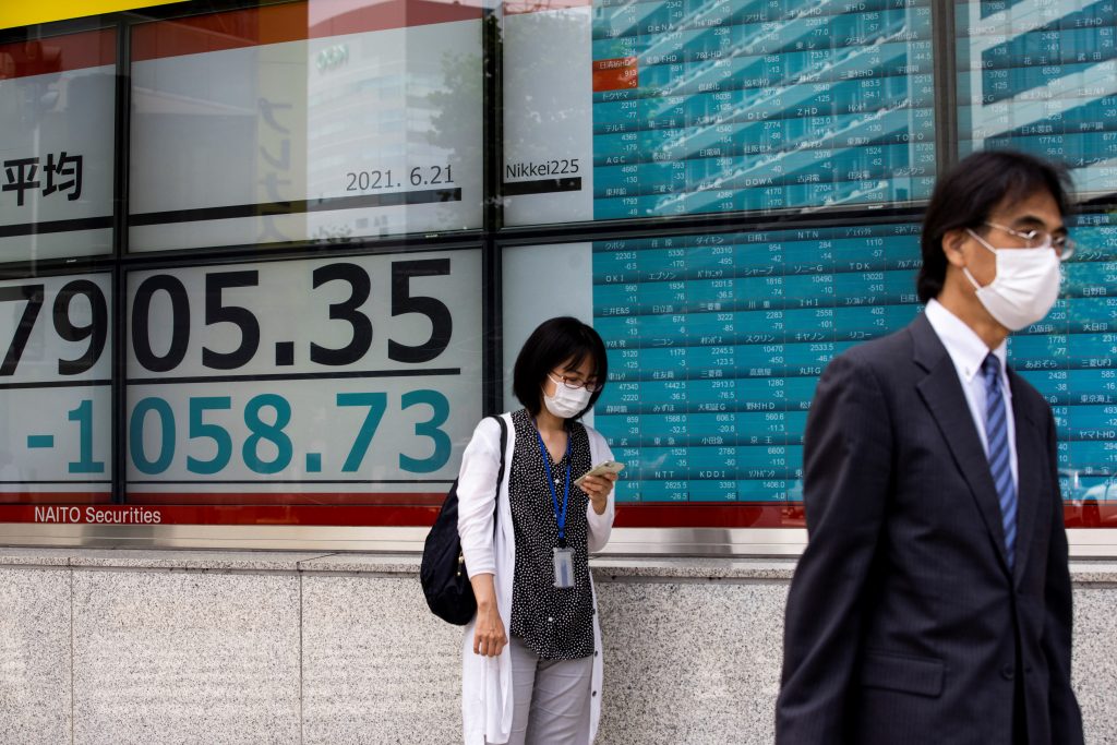
[[[967,228],[966,232],[996,257],[996,277],[985,287],[977,284],[970,269],[962,268],[989,314],[1010,331],[1020,331],[1046,316],[1059,297],[1059,254],[1050,246],[993,248],[973,230]]]

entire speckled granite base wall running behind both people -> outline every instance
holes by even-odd
[[[771,743],[793,566],[599,563],[598,743]],[[459,743],[461,629],[428,613],[417,570],[0,547],[0,743]],[[1117,745],[1117,564],[1076,577],[1087,743]]]

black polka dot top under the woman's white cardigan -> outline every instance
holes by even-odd
[[[516,448],[508,477],[512,522],[516,534],[516,574],[512,584],[509,632],[545,660],[573,660],[593,655],[593,594],[586,547],[585,509],[590,497],[573,479],[590,470],[590,438],[579,423],[571,427],[571,452],[551,476],[562,508],[566,458],[571,459],[570,506],[566,508],[566,545],[574,551],[574,586],[554,586],[554,547],[558,524],[543,468],[535,424],[526,409],[512,416]],[[545,450],[544,450],[545,451]],[[545,456],[551,459],[550,453]]]

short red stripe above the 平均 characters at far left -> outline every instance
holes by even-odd
[[[113,29],[0,44],[0,80],[102,67],[115,61]]]

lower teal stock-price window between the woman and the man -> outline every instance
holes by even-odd
[[[802,526],[803,429],[822,369],[918,312],[913,223],[506,249],[504,262],[504,313],[524,324],[509,345],[536,323],[519,311],[525,277],[592,276],[562,307],[533,312],[592,319],[605,342],[592,424],[628,465],[618,502],[747,506],[719,513],[737,527]]]

